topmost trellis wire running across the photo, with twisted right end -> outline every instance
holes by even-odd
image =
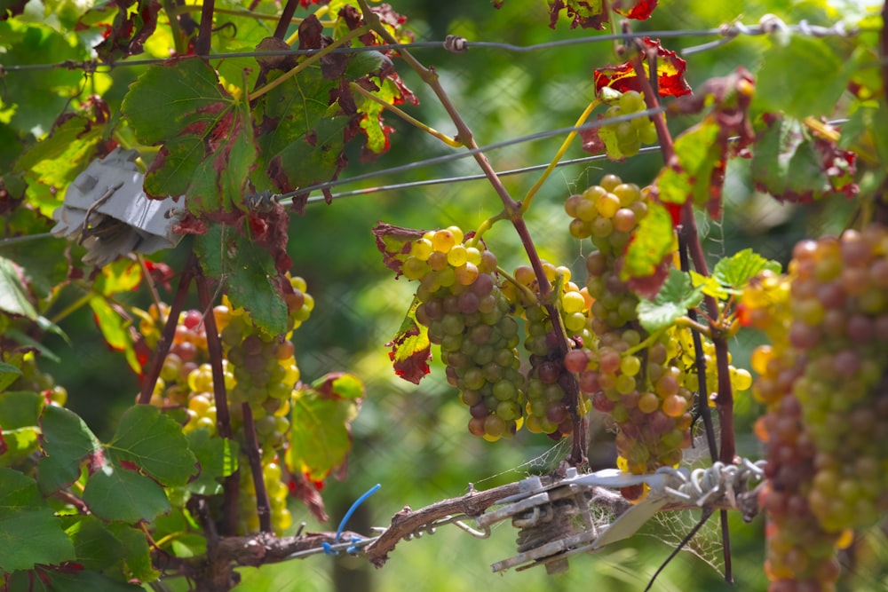
[[[462,38],[459,38],[462,43],[460,43],[460,50],[455,52],[462,52],[465,50],[469,50],[474,48],[484,48],[484,49],[494,49],[494,50],[503,50],[503,51],[512,51],[518,53],[525,53],[530,51],[543,51],[556,47],[564,47],[568,45],[581,45],[585,43],[601,43],[601,42],[612,42],[612,41],[621,41],[623,39],[641,39],[644,37],[657,37],[662,39],[668,38],[677,38],[677,37],[702,37],[702,36],[720,36],[721,39],[717,41],[713,41],[710,43],[702,43],[701,45],[696,45],[694,47],[686,48],[685,50],[679,51],[684,55],[689,55],[692,53],[696,53],[698,51],[705,51],[712,49],[714,47],[718,47],[724,43],[727,43],[737,36],[764,36],[764,35],[786,35],[789,33],[801,34],[805,36],[813,36],[813,37],[825,37],[825,36],[855,36],[860,32],[860,28],[846,28],[842,21],[838,21],[829,27],[825,27],[822,25],[811,25],[806,20],[800,20],[795,25],[787,25],[779,18],[775,17],[773,14],[765,14],[761,20],[759,20],[757,25],[744,25],[742,23],[733,23],[733,24],[725,24],[718,28],[705,28],[705,29],[684,29],[684,30],[670,30],[670,31],[640,31],[640,32],[628,32],[628,33],[619,33],[613,35],[599,35],[599,36],[588,36],[588,37],[578,37],[575,39],[559,39],[558,41],[550,41],[546,43],[534,43],[531,45],[515,45],[512,43],[500,43],[500,42],[491,42],[491,41],[468,41]],[[337,47],[332,50],[326,50],[329,53],[357,53],[361,51],[383,51],[383,50],[418,50],[418,49],[440,49],[441,47],[448,48],[450,40],[445,41],[420,41],[413,43],[387,43],[382,45],[366,45],[361,47]],[[278,50],[278,51],[234,51],[230,53],[214,53],[207,56],[178,56],[178,59],[208,59],[208,60],[218,60],[218,59],[234,59],[234,58],[271,58],[275,56],[308,56],[313,55],[321,50]],[[175,59],[175,58],[174,58]],[[84,61],[75,61],[73,59],[68,59],[66,61],[57,62],[53,64],[12,64],[12,65],[4,65],[0,63],[0,75],[4,75],[6,73],[12,72],[23,72],[28,70],[50,70],[50,69],[68,69],[68,70],[83,70],[86,73],[98,72],[98,71],[106,71],[111,70],[115,67],[130,67],[130,66],[152,66],[156,64],[163,64],[166,61],[169,61],[170,58],[153,58],[153,59],[128,59],[125,61],[112,61],[107,63],[100,63],[98,59],[89,59]],[[99,68],[102,68],[99,70]]]

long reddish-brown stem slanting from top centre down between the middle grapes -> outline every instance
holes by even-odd
[[[379,19],[378,15],[370,10],[366,0],[358,0],[358,4],[361,6],[361,13],[363,15],[364,22],[367,23],[367,25],[369,25],[372,30],[376,31],[377,34],[381,36],[383,40],[385,40],[385,43],[398,43],[397,39],[395,39],[394,36],[392,36],[392,34],[389,33],[388,30],[383,26],[382,21]],[[409,67],[413,68],[416,71],[416,74],[418,74],[419,77],[422,78],[423,82],[426,83],[429,88],[432,89],[432,92],[435,93],[435,96],[440,101],[441,106],[444,107],[444,110],[447,111],[450,120],[456,126],[457,135],[455,139],[459,140],[466,148],[469,148],[470,150],[477,150],[479,146],[475,142],[475,139],[472,137],[472,130],[470,130],[469,126],[466,125],[462,115],[459,114],[453,102],[448,97],[447,92],[444,91],[444,87],[440,84],[438,73],[434,71],[434,68],[424,67],[423,64],[421,64],[419,60],[414,58],[407,50],[400,51],[400,57],[408,63]],[[527,253],[527,259],[529,260],[531,267],[533,267],[534,269],[536,281],[537,284],[539,284],[540,298],[543,301],[543,305],[545,306],[546,311],[549,313],[549,318],[552,323],[552,330],[558,338],[559,353],[563,358],[565,355],[567,355],[567,351],[570,351],[570,344],[567,343],[567,333],[565,331],[563,323],[561,322],[561,315],[559,314],[556,306],[551,302],[551,285],[549,284],[549,280],[546,278],[546,274],[543,270],[543,261],[542,259],[540,259],[539,253],[536,251],[536,246],[534,244],[533,238],[530,236],[530,231],[527,229],[527,223],[525,222],[523,217],[521,204],[519,201],[515,201],[511,197],[509,190],[505,188],[505,185],[503,185],[503,181],[496,175],[496,170],[494,170],[493,166],[491,166],[486,154],[479,151],[472,154],[472,156],[474,157],[475,162],[478,162],[478,165],[484,172],[485,177],[488,178],[490,185],[493,186],[496,194],[499,195],[500,201],[503,201],[505,214],[511,220],[511,224],[515,227],[515,231],[519,235],[521,244],[524,246],[524,250]],[[573,465],[583,464],[583,462],[586,461],[586,454],[584,450],[586,440],[586,422],[583,416],[578,411],[579,399],[579,387],[576,383],[576,379],[572,378],[569,383],[569,388],[567,389],[567,407],[570,410],[570,414],[573,419],[574,441],[569,457],[569,462]]]

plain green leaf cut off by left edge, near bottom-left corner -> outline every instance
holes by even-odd
[[[36,481],[0,468],[0,572],[75,558],[74,545],[37,491]]]

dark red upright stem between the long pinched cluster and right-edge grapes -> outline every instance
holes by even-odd
[[[637,45],[638,51],[632,57],[632,67],[638,78],[645,97],[645,103],[648,108],[660,107],[659,94],[654,91],[654,87],[647,79],[642,56],[651,60],[650,72],[651,76],[657,75],[656,56],[649,54],[648,50],[641,44]],[[662,112],[652,115],[654,128],[657,131],[657,138],[660,141],[660,150],[663,156],[665,166],[675,166],[675,143],[672,141],[670,130],[666,127],[666,118]],[[681,209],[681,227],[678,232],[679,237],[684,237],[687,255],[694,263],[694,269],[702,276],[709,277],[709,266],[706,264],[706,256],[703,253],[702,244],[700,242],[700,233],[697,229],[697,221],[694,219],[694,202],[688,199],[685,201]],[[679,254],[680,257],[680,254]],[[684,264],[687,267],[687,262]],[[685,270],[687,271],[687,270]],[[733,464],[735,445],[733,432],[733,392],[731,390],[731,375],[728,370],[728,351],[725,337],[718,330],[715,323],[718,322],[718,302],[712,296],[704,296],[703,302],[710,316],[710,334],[712,343],[716,350],[716,365],[718,371],[718,395],[716,397],[716,409],[718,411],[719,427],[721,429],[720,449],[718,451],[718,459],[726,464]],[[696,320],[694,311],[689,311],[691,320]],[[709,414],[709,397],[706,392],[706,370],[705,359],[702,356],[702,339],[700,333],[692,328],[694,336],[694,353],[696,356],[698,383],[700,384],[700,392],[698,393],[699,408],[706,425],[707,440],[710,446],[710,454],[715,459],[715,434],[712,428],[712,419],[709,417],[707,423],[707,415]],[[702,361],[702,365],[701,365]],[[719,522],[722,530],[722,552],[725,557],[725,581],[733,581],[733,570],[731,565],[731,537],[728,530],[727,511],[719,511]]]

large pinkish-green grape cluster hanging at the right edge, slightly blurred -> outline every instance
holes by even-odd
[[[802,241],[788,276],[744,291],[756,425],[768,448],[772,590],[835,589],[836,546],[888,510],[888,233],[871,226]],[[805,588],[806,587],[806,588]]]

